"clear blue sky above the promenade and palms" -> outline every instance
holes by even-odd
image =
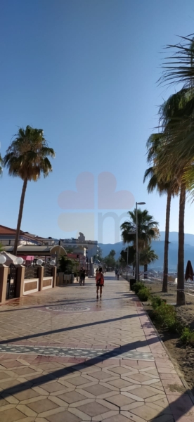
[[[97,198],[98,174],[111,172],[117,190],[145,201],[163,231],[166,197],[148,195],[143,185],[145,141],[157,125],[157,106],[176,89],[157,86],[162,47],[194,32],[193,1],[1,0],[0,32],[1,155],[27,124],[44,129],[56,151],[53,173],[27,186],[21,229],[60,238],[84,231],[77,222],[63,231],[65,215],[79,212],[87,220],[94,212],[97,218],[97,200],[91,209],[86,200],[84,209],[75,196],[75,207],[65,210],[58,198],[76,190],[82,172],[93,174]],[[82,198],[91,195],[91,178],[81,183]],[[15,228],[22,181],[4,170],[0,189],[0,224]],[[187,204],[186,233],[194,234],[193,211]],[[178,219],[175,199],[170,231],[178,231]],[[113,232],[107,219],[104,243],[115,241]]]

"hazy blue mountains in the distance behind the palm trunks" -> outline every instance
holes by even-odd
[[[158,255],[158,260],[149,265],[149,268],[153,269],[162,269],[164,262],[164,236],[165,232],[160,231],[160,240],[152,242],[152,248],[155,250],[155,253]],[[171,231],[169,233],[169,271],[176,271],[177,268],[177,257],[178,257],[178,238],[179,233],[176,231]],[[123,242],[118,243],[98,243],[103,251],[103,257],[109,254],[111,249],[114,249],[116,252],[115,259],[117,260],[120,256],[120,252],[123,248],[126,248],[127,245],[124,245]],[[185,234],[185,265],[187,261],[190,260],[194,267],[194,234]]]

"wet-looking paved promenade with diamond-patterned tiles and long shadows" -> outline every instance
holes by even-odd
[[[193,422],[194,406],[129,283],[105,276],[0,307],[1,422]]]

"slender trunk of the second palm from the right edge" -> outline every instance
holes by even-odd
[[[166,209],[166,227],[165,227],[165,241],[164,241],[164,274],[162,292],[168,291],[168,271],[169,271],[169,218],[170,218],[170,205],[171,205],[171,188],[167,192],[167,209]]]

